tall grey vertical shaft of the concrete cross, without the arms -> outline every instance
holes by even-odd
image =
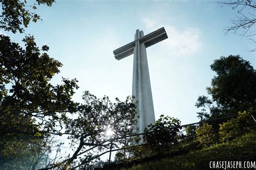
[[[138,101],[137,115],[137,133],[142,133],[147,125],[154,124],[154,106],[150,84],[149,66],[147,63],[146,47],[140,43],[139,39],[144,37],[143,31],[136,30],[134,36],[135,47],[133,56],[133,81],[132,95]]]

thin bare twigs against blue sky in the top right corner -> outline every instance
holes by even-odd
[[[232,10],[237,10],[238,12],[238,16],[231,20],[232,25],[226,27],[226,33],[241,31],[242,37],[246,36],[251,40],[252,44],[255,44],[251,51],[256,51],[256,32],[254,29],[254,24],[256,23],[256,2],[254,0],[221,0],[218,3],[221,7],[223,5],[231,6]]]

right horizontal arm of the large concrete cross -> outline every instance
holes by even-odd
[[[167,39],[167,34],[165,32],[164,27],[161,27],[160,29],[153,31],[149,34],[146,34],[146,36],[139,39],[140,43],[145,44],[146,47],[152,46],[156,44],[157,42],[163,41],[164,39]]]

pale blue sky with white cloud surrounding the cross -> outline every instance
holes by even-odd
[[[210,65],[220,56],[240,54],[256,67],[248,40],[224,34],[237,12],[214,1],[63,0],[41,5],[37,13],[43,20],[25,33],[38,46],[49,45],[50,56],[63,63],[54,83],[62,76],[78,79],[78,102],[85,90],[122,100],[131,95],[133,56],[117,61],[113,50],[133,41],[137,29],[147,34],[165,27],[169,37],[147,48],[156,119],[164,114],[182,124],[198,122],[194,104],[206,94],[214,75]],[[15,42],[24,37],[4,33]]]

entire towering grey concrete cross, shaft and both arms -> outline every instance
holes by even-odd
[[[149,66],[147,65],[146,47],[168,38],[164,27],[144,36],[143,31],[136,30],[134,41],[113,51],[114,57],[121,60],[134,54],[132,95],[138,101],[137,133],[143,133],[151,123],[156,123],[150,85]]]

